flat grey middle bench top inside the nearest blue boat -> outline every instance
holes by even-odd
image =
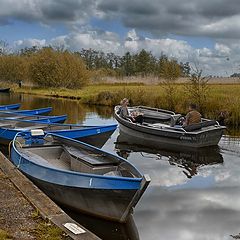
[[[66,150],[69,152],[69,154],[72,157],[81,159],[87,164],[90,164],[91,166],[97,167],[97,166],[108,166],[108,165],[114,165],[112,162],[103,162],[101,161],[102,158],[104,157],[103,154],[90,154],[88,152],[80,152],[77,149],[73,147],[67,147],[65,146]],[[98,159],[101,158],[101,159]]]

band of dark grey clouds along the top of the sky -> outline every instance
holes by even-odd
[[[128,28],[155,36],[240,38],[239,0],[0,0],[0,3],[0,25],[18,19],[81,26],[89,24],[92,18],[105,18],[120,20]]]

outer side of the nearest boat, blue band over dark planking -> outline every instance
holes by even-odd
[[[45,194],[60,205],[78,212],[126,222],[149,180],[64,171],[29,161],[11,148],[14,165]]]

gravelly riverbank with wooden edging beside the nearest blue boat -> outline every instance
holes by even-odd
[[[0,239],[99,239],[64,213],[0,152]],[[64,227],[75,224],[82,233]]]

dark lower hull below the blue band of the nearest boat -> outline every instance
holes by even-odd
[[[125,222],[123,218],[137,190],[87,189],[62,186],[27,175],[53,201],[80,213],[111,221]]]

